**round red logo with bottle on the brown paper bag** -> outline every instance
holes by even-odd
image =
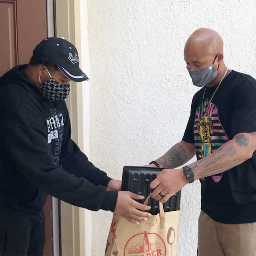
[[[158,234],[144,231],[128,240],[123,256],[166,256],[166,245]]]

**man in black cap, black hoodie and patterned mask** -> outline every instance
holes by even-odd
[[[39,43],[28,65],[0,77],[0,255],[43,255],[43,206],[48,194],[97,211],[120,213],[133,223],[150,207],[119,191],[71,139],[64,99],[70,81],[88,77],[76,47],[64,38]]]

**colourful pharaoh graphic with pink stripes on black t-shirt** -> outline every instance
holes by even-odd
[[[212,102],[209,103],[208,99],[196,110],[194,140],[199,159],[209,156],[228,141],[228,136],[219,120],[218,108]],[[212,179],[216,183],[220,182],[222,173],[213,175]]]

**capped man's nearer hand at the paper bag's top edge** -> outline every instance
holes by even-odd
[[[133,199],[144,199],[144,196],[134,194],[129,191],[120,191],[118,192],[118,198],[115,208],[115,213],[121,214],[128,221],[140,224],[141,221],[147,220],[148,217],[151,217],[150,213],[145,211],[150,210],[150,206],[140,204]]]

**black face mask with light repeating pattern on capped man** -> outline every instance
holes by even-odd
[[[69,95],[70,85],[58,83],[52,78],[48,70],[47,72],[51,78],[46,82],[41,83],[41,77],[39,76],[39,84],[43,98],[51,101],[65,100]]]

